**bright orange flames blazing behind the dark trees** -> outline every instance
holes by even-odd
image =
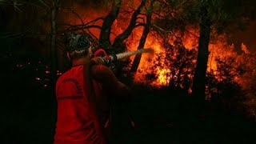
[[[130,10],[135,10],[139,2],[134,2],[130,4],[129,2],[123,3],[123,9],[125,11],[118,14],[118,18],[114,21],[112,25],[110,41],[114,42],[114,38],[118,34],[121,34],[126,27],[129,25],[131,12]],[[134,7],[134,8],[132,8]],[[93,21],[95,18],[100,18],[107,14],[106,10],[94,10],[87,8],[86,10],[83,7],[74,5],[74,10],[77,10],[76,13],[83,15],[85,17],[78,18],[73,14],[66,11],[64,21],[70,23],[71,25],[82,24],[83,22]],[[145,16],[141,16],[145,18]],[[99,26],[102,25],[102,19],[99,19],[95,23]],[[130,34],[130,37],[126,40],[127,50],[137,50],[139,40],[142,36],[143,26],[138,26],[134,28],[133,33]],[[97,38],[99,37],[100,30],[98,28],[90,29],[90,33],[94,34]],[[253,86],[253,83],[250,80],[250,77],[256,78],[256,69],[252,64],[255,62],[254,55],[247,49],[244,43],[241,43],[242,54],[238,54],[237,50],[234,50],[234,44],[227,42],[227,36],[225,34],[219,35],[214,34],[214,38],[210,39],[209,45],[209,59],[208,59],[208,68],[207,71],[215,75],[215,78],[218,81],[221,81],[223,78],[220,76],[219,62],[227,62],[230,59],[234,59],[232,66],[234,69],[238,70],[246,69],[246,72],[241,72],[240,75],[234,77],[234,81],[238,82],[243,89],[249,90],[248,86]],[[170,38],[168,48],[163,45],[163,38],[154,32],[150,32],[146,38],[145,48],[152,48],[154,50],[154,56],[149,54],[142,54],[142,59],[138,66],[138,72],[134,76],[135,82],[147,82],[146,77],[149,74],[152,74],[150,77],[151,80],[149,83],[152,86],[168,86],[170,82],[174,82],[174,86],[186,87],[186,89],[191,92],[191,79],[193,78],[193,70],[196,62],[196,53],[198,46],[198,37],[199,30],[194,27],[187,27],[187,31],[182,34],[181,40],[182,43],[176,46],[175,39]],[[184,50],[181,50],[185,48]],[[169,52],[167,53],[166,51]],[[130,61],[133,62],[134,57],[130,58]],[[179,61],[179,62],[175,62]],[[183,83],[181,81],[184,81]]]

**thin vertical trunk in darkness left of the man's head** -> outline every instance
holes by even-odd
[[[56,36],[57,36],[57,14],[60,0],[53,0],[53,7],[51,10],[51,42],[50,42],[50,59],[51,59],[51,74],[53,81],[57,79],[57,50],[56,50]]]

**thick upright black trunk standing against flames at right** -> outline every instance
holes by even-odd
[[[201,8],[200,37],[198,43],[198,59],[194,72],[192,95],[198,102],[205,100],[206,70],[209,56],[210,18],[207,8]]]

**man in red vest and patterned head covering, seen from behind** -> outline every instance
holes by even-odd
[[[91,58],[92,46],[85,34],[66,34],[65,44],[72,67],[56,82],[54,144],[109,143],[110,101],[126,99],[130,90],[101,59]]]

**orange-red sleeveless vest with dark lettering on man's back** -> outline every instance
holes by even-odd
[[[54,144],[106,144],[88,101],[88,93],[84,90],[84,77],[84,66],[81,65],[72,67],[58,78],[58,118]],[[102,95],[98,82],[94,82],[94,92],[98,97]]]

